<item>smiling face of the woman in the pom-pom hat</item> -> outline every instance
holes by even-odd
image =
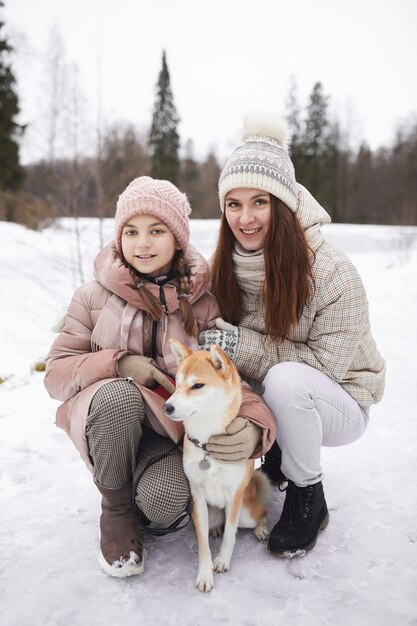
[[[225,215],[230,229],[245,250],[263,248],[271,223],[271,199],[260,189],[232,189],[225,198]]]

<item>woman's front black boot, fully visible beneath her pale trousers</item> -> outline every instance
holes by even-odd
[[[288,481],[281,518],[269,535],[268,550],[277,556],[302,556],[316,545],[329,523],[321,482],[297,487]]]

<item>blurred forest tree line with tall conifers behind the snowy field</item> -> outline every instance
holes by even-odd
[[[119,194],[141,175],[175,183],[187,194],[192,217],[219,217],[217,182],[224,163],[214,152],[197,159],[190,140],[181,149],[180,115],[165,52],[149,130],[115,123],[101,130],[94,154],[85,155],[76,148],[82,133],[82,112],[74,97],[68,124],[72,129],[69,143],[75,146],[73,155],[56,156],[57,120],[53,116],[58,107],[52,106],[48,156],[22,166],[19,140],[25,128],[15,121],[19,101],[10,63],[12,49],[1,34],[2,27],[0,21],[1,220],[39,228],[62,216],[113,217]],[[52,54],[51,62],[54,58],[59,55]],[[297,181],[311,191],[334,222],[417,225],[415,119],[398,128],[387,147],[372,151],[363,140],[353,148],[349,132],[330,114],[330,96],[323,85],[317,82],[302,106],[295,79],[286,99],[286,118]]]

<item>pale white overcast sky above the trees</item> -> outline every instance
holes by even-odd
[[[323,83],[354,144],[386,145],[397,124],[416,115],[416,0],[5,3],[2,15],[17,48],[21,121],[29,124],[24,162],[46,155],[42,68],[54,29],[66,61],[78,67],[91,136],[99,101],[104,125],[132,122],[147,130],[163,49],[182,144],[191,138],[199,157],[209,149],[227,156],[247,110],[284,113],[291,75],[303,106],[314,83]]]

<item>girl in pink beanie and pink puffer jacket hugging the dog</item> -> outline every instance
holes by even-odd
[[[176,371],[168,339],[196,348],[197,333],[219,314],[208,264],[188,245],[190,212],[168,181],[130,183],[117,202],[114,242],[98,254],[95,280],[75,292],[47,357],[46,388],[63,401],[57,425],[102,495],[99,564],[111,576],[143,571],[141,526],[162,534],[189,512],[176,445],[182,426],[162,411]],[[274,441],[273,416],[243,391],[241,417],[220,446],[213,442],[214,456],[217,448],[260,456]]]

